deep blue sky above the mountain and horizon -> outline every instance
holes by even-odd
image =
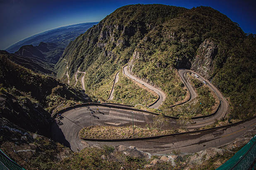
[[[255,0],[0,0],[0,50],[36,33],[104,19],[130,4],[164,4],[191,9],[209,6],[256,34]]]

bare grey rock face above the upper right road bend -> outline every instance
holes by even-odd
[[[192,61],[191,70],[196,71],[205,78],[210,78],[214,68],[213,59],[217,52],[218,48],[213,40],[204,40]]]

